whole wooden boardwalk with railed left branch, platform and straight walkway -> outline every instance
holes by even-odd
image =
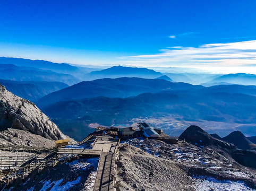
[[[86,138],[84,142],[90,140],[91,137]],[[89,145],[90,149],[81,149],[78,145],[78,148],[61,147],[53,150],[40,150],[40,153],[36,152],[29,157],[2,157],[0,158],[0,181],[5,181],[8,185],[16,177],[24,179],[33,169],[38,169],[39,172],[46,166],[55,166],[58,162],[58,154],[78,154],[100,157],[93,190],[114,190],[115,159],[118,156],[119,143],[120,139],[98,136],[93,144]]]

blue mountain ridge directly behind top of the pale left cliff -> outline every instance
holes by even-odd
[[[3,79],[0,79],[0,84],[4,85],[13,94],[32,102],[36,102],[49,93],[69,86],[62,82],[12,81]]]

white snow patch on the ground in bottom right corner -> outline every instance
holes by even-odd
[[[212,177],[193,177],[197,191],[218,190],[218,191],[252,191],[254,189],[246,186],[242,181],[216,180]]]

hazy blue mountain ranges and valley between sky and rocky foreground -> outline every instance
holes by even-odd
[[[221,136],[237,130],[255,135],[253,74],[160,73],[123,66],[100,70],[5,57],[0,61],[5,74],[0,83],[35,102],[75,140],[92,132],[94,124],[130,126],[140,121],[173,136],[193,124]],[[27,71],[33,77],[25,77]]]

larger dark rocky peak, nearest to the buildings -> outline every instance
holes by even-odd
[[[185,131],[179,137],[180,140],[184,140],[187,143],[191,143],[196,146],[218,146],[224,149],[235,149],[235,146],[224,141],[218,140],[212,137],[207,132],[203,131],[199,126],[191,125],[186,128]]]

